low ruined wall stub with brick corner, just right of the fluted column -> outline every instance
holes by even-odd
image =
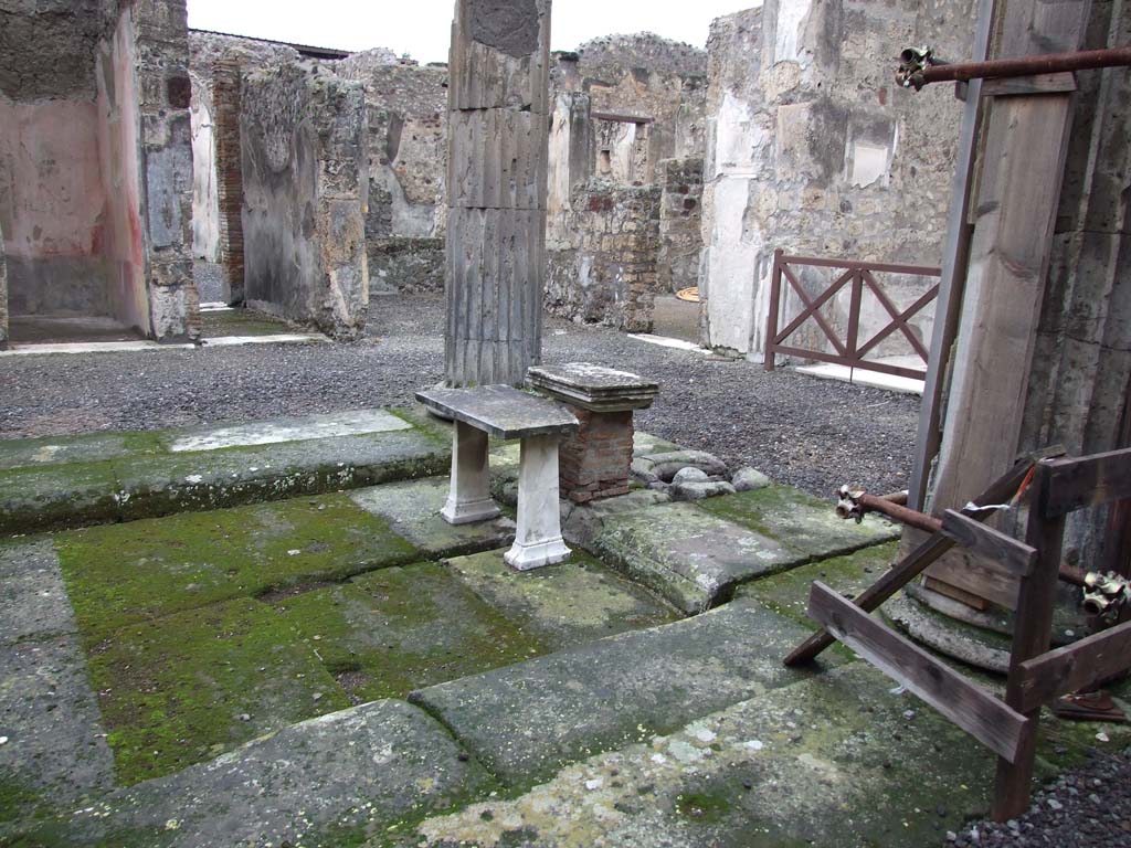
[[[573,191],[564,222],[570,239],[547,245],[547,312],[628,332],[651,331],[661,197],[658,185],[598,178]]]

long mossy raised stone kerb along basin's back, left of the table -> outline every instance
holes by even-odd
[[[165,452],[162,445],[182,431],[3,442],[0,462],[18,467],[0,466],[0,536],[277,501],[448,471],[450,439],[438,427],[415,424],[412,412],[372,415],[382,421],[387,416],[389,426],[399,422],[398,429],[180,453]],[[49,452],[54,460],[34,461]],[[62,461],[69,457],[84,461]]]

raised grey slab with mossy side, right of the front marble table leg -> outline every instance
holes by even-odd
[[[688,503],[610,516],[592,545],[603,562],[689,615],[725,600],[737,583],[809,559],[762,533]]]

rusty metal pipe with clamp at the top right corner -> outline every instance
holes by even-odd
[[[1131,47],[1083,50],[1074,53],[1044,53],[987,62],[940,62],[927,49],[909,47],[900,55],[896,79],[904,88],[920,90],[931,83],[965,83],[972,79],[1031,77],[1038,73],[1123,68],[1131,66]]]

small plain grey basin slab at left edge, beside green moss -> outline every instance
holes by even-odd
[[[50,538],[0,542],[0,644],[76,632]]]

